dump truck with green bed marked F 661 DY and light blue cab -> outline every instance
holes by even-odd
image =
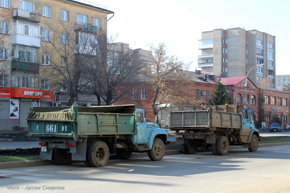
[[[67,165],[73,160],[102,167],[110,153],[128,159],[147,152],[153,161],[164,156],[168,131],[147,123],[134,104],[95,107],[30,107],[28,136],[39,137],[41,159]]]

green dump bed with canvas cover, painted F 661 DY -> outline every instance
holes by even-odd
[[[30,136],[93,137],[137,133],[135,105],[31,107]]]

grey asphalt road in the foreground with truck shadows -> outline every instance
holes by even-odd
[[[109,160],[102,168],[83,163],[0,170],[0,192],[290,192],[290,145],[230,150],[226,156],[211,152],[168,155],[161,161],[148,157]],[[7,189],[12,186],[18,190]],[[39,190],[27,190],[31,186]],[[44,188],[44,190],[43,190]]]

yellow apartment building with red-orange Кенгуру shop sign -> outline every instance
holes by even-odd
[[[0,130],[12,130],[28,126],[31,105],[68,104],[67,88],[51,82],[75,70],[79,62],[70,60],[94,54],[89,47],[98,34],[106,34],[108,14],[114,12],[81,0],[0,1]],[[88,40],[90,45],[84,45]],[[95,100],[75,99],[83,106]]]

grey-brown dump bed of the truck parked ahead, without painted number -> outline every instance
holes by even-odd
[[[242,106],[207,106],[204,111],[177,111],[170,113],[170,129],[242,128]]]

